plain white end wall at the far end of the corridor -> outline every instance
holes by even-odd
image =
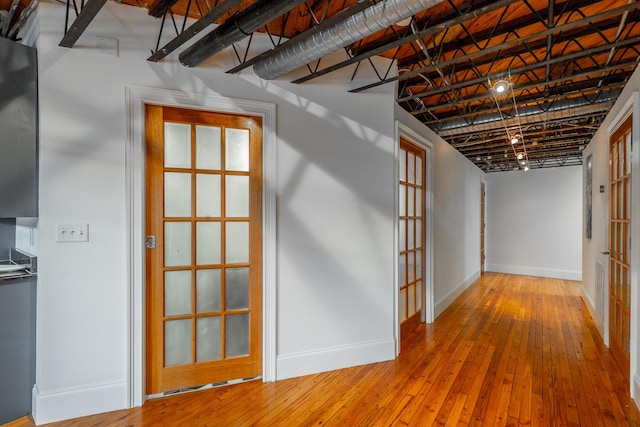
[[[487,270],[580,280],[582,167],[487,174]]]

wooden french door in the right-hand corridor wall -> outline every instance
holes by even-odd
[[[631,310],[631,117],[610,139],[609,342],[629,379]]]

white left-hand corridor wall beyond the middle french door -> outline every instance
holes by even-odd
[[[396,106],[396,120],[433,144],[435,315],[480,276],[480,186],[485,173]]]

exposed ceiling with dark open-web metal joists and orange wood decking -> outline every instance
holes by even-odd
[[[6,10],[0,12],[0,36],[6,33],[4,18],[15,1],[20,2],[18,14],[30,0],[0,0],[0,10]],[[105,0],[89,0],[87,12],[96,1]],[[140,0],[120,1],[141,4]],[[154,2],[148,6],[150,12],[163,19],[149,60],[161,60],[207,26],[224,25],[235,14],[246,14],[264,1],[150,0]],[[269,6],[276,1],[280,2],[274,0]],[[516,158],[518,150],[527,153],[525,160],[534,168],[581,164],[582,149],[640,58],[640,3],[634,0],[300,2],[270,22],[261,21],[259,28],[242,27],[247,33],[243,36],[252,38],[247,46],[233,45],[239,64],[228,72],[253,65],[258,77],[271,79],[305,66],[309,73],[294,81],[303,83],[355,65],[354,80],[363,61],[373,65],[371,57],[386,57],[386,71],[373,68],[378,81],[352,92],[399,82],[399,105],[487,172],[526,169]],[[408,7],[411,12],[406,12]],[[396,18],[389,20],[388,8],[404,10],[396,18],[408,19],[392,22]],[[267,9],[273,16],[281,13]],[[385,13],[368,28],[363,14],[374,9]],[[184,18],[179,29],[176,16],[189,16],[195,24],[185,29]],[[358,24],[352,26],[354,20]],[[83,21],[88,23],[83,16],[74,23],[74,31]],[[177,37],[159,48],[165,21],[173,25]],[[341,36],[329,29],[339,30]],[[264,32],[273,47],[256,51],[254,46],[262,44],[252,44],[253,30]],[[307,41],[314,44],[305,51],[302,45]],[[341,49],[346,60],[337,64],[324,60],[323,56]],[[249,54],[252,57],[247,59]],[[508,101],[493,92],[500,79],[509,81]],[[517,149],[511,145],[515,132],[525,141]]]

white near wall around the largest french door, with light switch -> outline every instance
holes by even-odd
[[[229,54],[197,69],[175,54],[149,63],[159,21],[116,3],[76,47],[60,48],[64,12],[50,1],[38,9],[37,241],[18,233],[39,256],[36,422],[130,404],[130,86],[276,104],[278,378],[392,358],[393,86],[349,94],[352,69],[306,85],[227,75]],[[119,39],[119,56],[98,51],[97,35]],[[366,67],[360,77],[351,85],[374,78]],[[55,243],[63,222],[89,223],[90,241]]]

